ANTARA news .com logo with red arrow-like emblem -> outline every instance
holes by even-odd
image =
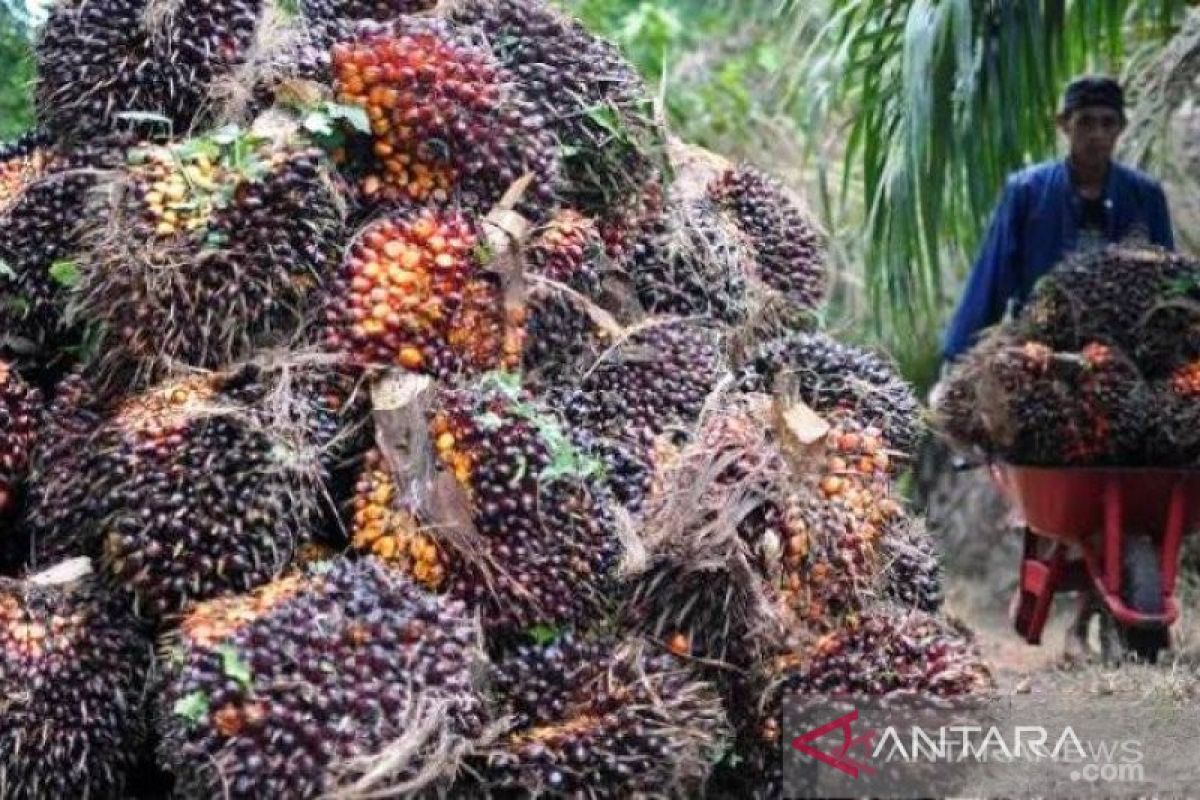
[[[1081,740],[1069,724],[1046,726],[889,724],[859,726],[853,709],[792,740],[792,747],[851,778],[874,776],[886,765],[1055,762],[1079,765],[1072,781],[1141,781],[1144,753],[1136,739]],[[818,746],[820,742],[820,746]]]

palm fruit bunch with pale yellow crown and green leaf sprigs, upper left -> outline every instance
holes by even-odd
[[[340,254],[322,152],[224,128],[130,160],[96,210],[72,303],[104,331],[106,372],[155,379],[294,342]]]

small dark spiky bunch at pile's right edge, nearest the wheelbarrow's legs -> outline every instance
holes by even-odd
[[[942,607],[942,564],[920,519],[902,517],[880,539],[883,597],[901,608],[936,614]]]

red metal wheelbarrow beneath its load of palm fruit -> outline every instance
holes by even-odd
[[[1058,591],[1093,589],[1102,645],[1154,662],[1170,645],[1183,536],[1200,525],[1200,470],[992,464],[1025,525],[1013,625],[1042,642]]]

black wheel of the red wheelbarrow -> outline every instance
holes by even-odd
[[[1150,536],[1126,540],[1122,565],[1121,599],[1142,614],[1163,613],[1163,582],[1158,565],[1158,547]],[[1122,661],[1127,655],[1156,663],[1158,654],[1170,646],[1165,625],[1122,626],[1108,610],[1100,618],[1100,654],[1104,661]]]

